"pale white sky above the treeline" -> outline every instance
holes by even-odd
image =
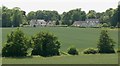
[[[58,13],[82,8],[83,11],[104,12],[108,8],[117,8],[120,0],[1,0],[0,5],[8,8],[20,7],[26,13],[37,10],[56,10]]]

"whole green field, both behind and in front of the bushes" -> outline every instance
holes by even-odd
[[[2,40],[3,45],[7,39],[7,34],[16,28],[3,28]],[[61,51],[66,52],[70,46],[79,49],[81,53],[86,48],[96,48],[100,31],[103,28],[74,28],[74,27],[26,27],[21,28],[30,38],[40,31],[48,31],[56,35],[61,42]],[[118,31],[117,29],[109,29],[109,35],[116,42],[115,49],[118,47]],[[33,58],[3,58],[4,64],[116,64],[118,60],[117,54],[103,55],[84,55],[78,56],[55,56],[55,57],[33,57]],[[34,62],[33,62],[34,61]]]

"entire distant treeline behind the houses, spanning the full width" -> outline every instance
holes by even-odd
[[[12,9],[2,6],[0,8],[0,21],[2,21],[2,27],[19,27],[29,24],[31,19],[43,19],[45,21],[61,22],[63,25],[72,25],[74,21],[84,21],[85,19],[99,19],[101,24],[106,23],[109,26],[118,26],[120,23],[120,6],[113,9],[109,8],[105,12],[96,12],[95,10],[89,10],[88,13],[82,11],[81,8],[73,9],[68,12],[59,14],[57,11],[38,10],[31,11],[26,14],[25,11],[19,7]]]

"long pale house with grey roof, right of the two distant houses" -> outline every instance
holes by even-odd
[[[75,21],[73,26],[77,27],[98,27],[99,19],[86,19],[85,21]]]

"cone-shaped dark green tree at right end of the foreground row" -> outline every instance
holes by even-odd
[[[115,53],[114,45],[115,42],[108,35],[107,30],[102,30],[97,45],[99,53]]]

